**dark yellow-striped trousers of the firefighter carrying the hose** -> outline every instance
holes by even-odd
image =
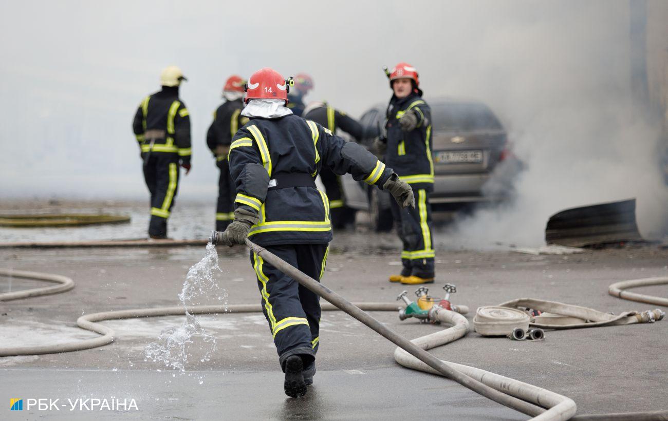
[[[266,249],[317,281],[325,272],[327,244],[267,246]],[[253,252],[251,264],[281,369],[285,372],[289,356],[299,355],[304,362],[305,376],[307,373],[313,376],[320,342],[320,297]]]

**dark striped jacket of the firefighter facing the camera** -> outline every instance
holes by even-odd
[[[402,131],[399,119],[404,113],[413,112],[418,126]],[[413,190],[431,190],[434,185],[434,161],[432,159],[432,113],[429,105],[412,93],[405,98],[394,95],[387,106],[387,154],[385,161],[399,178],[409,183]]]

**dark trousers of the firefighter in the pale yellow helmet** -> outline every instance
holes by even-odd
[[[151,193],[151,222],[148,235],[167,236],[167,218],[170,216],[178,189],[178,154],[150,153],[144,160],[144,180]]]

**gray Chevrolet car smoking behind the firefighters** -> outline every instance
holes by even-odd
[[[450,98],[427,101],[432,108],[434,148],[432,209],[456,210],[506,199],[512,191],[512,178],[521,165],[510,153],[506,130],[492,110],[477,101]],[[385,125],[385,104],[377,104],[363,113],[360,123],[369,133],[362,143],[371,149],[375,133]],[[369,211],[376,230],[391,229],[389,195],[367,189],[349,175],[342,179],[347,205]]]

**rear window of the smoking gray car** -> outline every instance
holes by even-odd
[[[480,103],[437,103],[432,106],[435,130],[503,129],[492,110]]]

